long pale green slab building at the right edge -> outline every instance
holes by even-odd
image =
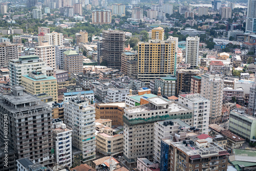
[[[240,113],[236,110],[231,111],[229,114],[228,129],[246,141],[256,141],[256,118],[253,116]]]

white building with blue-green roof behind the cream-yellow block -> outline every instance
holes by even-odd
[[[9,77],[11,86],[22,84],[22,75],[37,71],[46,74],[46,62],[37,55],[20,56],[9,61]]]

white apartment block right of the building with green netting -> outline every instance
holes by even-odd
[[[208,134],[210,100],[200,94],[182,94],[179,95],[179,103],[194,111],[192,126],[199,129],[199,134]]]

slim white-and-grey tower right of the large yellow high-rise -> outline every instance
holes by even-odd
[[[193,68],[198,67],[199,40],[200,40],[200,37],[198,36],[186,38],[185,63],[190,63],[190,66]]]

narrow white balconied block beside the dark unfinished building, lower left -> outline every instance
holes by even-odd
[[[56,164],[72,166],[72,130],[65,123],[56,123],[53,129],[53,144]]]

